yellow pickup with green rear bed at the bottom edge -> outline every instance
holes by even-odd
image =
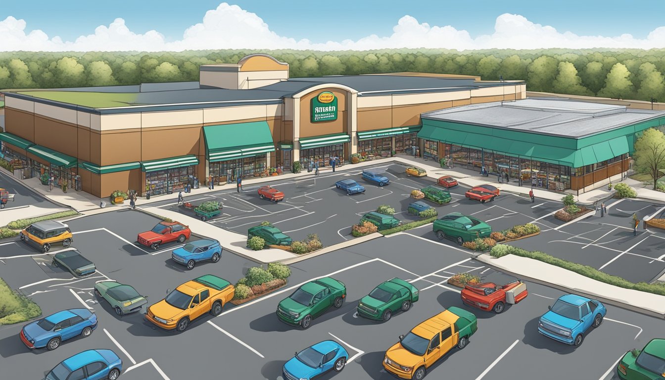
[[[400,341],[386,351],[383,367],[400,379],[422,380],[427,369],[453,347],[466,347],[477,329],[475,315],[449,307],[400,335]]]

